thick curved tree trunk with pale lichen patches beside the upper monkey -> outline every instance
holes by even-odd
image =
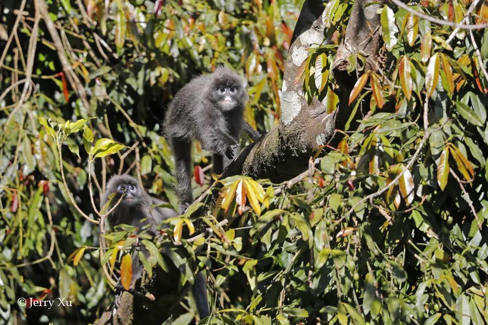
[[[330,140],[335,128],[334,114],[328,114],[317,98],[309,105],[302,84],[294,82],[298,68],[308,56],[307,50],[324,40],[324,8],[322,1],[307,0],[300,13],[285,63],[280,123],[244,148],[223,177],[243,174],[282,182],[303,172],[312,150]]]

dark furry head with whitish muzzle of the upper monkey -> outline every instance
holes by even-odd
[[[218,67],[212,74],[213,79],[209,89],[209,99],[223,112],[236,108],[244,108],[247,100],[243,81],[230,69]]]

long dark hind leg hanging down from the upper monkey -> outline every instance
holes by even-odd
[[[178,212],[183,213],[193,202],[191,189],[191,147],[190,142],[183,139],[172,138],[171,142],[176,163],[176,194],[180,200]]]

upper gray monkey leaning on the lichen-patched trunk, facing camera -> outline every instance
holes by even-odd
[[[212,172],[221,174],[233,159],[243,128],[256,140],[261,134],[244,122],[247,101],[244,82],[225,67],[193,78],[174,97],[164,119],[164,133],[176,163],[176,191],[183,213],[193,202],[191,188],[191,141],[211,152]]]

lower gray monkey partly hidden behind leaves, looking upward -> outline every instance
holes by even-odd
[[[117,208],[107,216],[107,228],[113,228],[119,224],[127,224],[141,228],[144,224],[147,224],[150,225],[147,233],[154,236],[159,233],[158,229],[163,220],[177,215],[173,209],[159,207],[160,205],[166,204],[166,202],[147,194],[139,182],[132,176],[114,175],[110,178],[105,194],[103,194],[100,202],[101,208],[108,202],[109,196],[112,193],[115,193],[115,195],[112,197],[107,211],[119,201],[122,195],[123,199]],[[142,247],[141,250],[146,257],[149,256],[147,249]],[[134,254],[132,257],[133,284],[141,278],[142,268],[143,266],[139,261],[138,254]],[[119,280],[116,286],[116,307],[118,307],[122,292],[123,288]],[[198,273],[195,277],[192,292],[200,317],[207,317],[210,312],[208,310],[206,279],[202,272]]]

